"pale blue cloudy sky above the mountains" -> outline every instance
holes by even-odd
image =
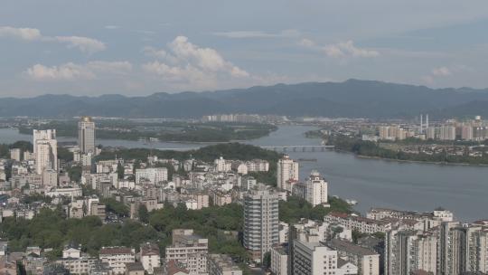
[[[361,79],[487,88],[488,1],[0,2],[0,98]]]

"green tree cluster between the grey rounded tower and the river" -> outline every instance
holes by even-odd
[[[312,219],[323,220],[324,215],[327,213],[342,212],[352,213],[351,205],[345,201],[335,197],[329,197],[330,207],[324,207],[323,205],[317,205],[312,207],[304,199],[296,196],[289,196],[288,200],[279,202],[279,220],[285,223],[296,223],[300,219]]]

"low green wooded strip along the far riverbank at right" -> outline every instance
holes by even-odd
[[[469,165],[488,165],[488,154],[483,156],[454,156],[445,151],[438,154],[428,155],[425,153],[406,153],[400,150],[392,150],[380,147],[376,142],[363,141],[359,137],[335,136],[329,137],[328,144],[335,146],[337,150],[352,152],[358,156],[380,157],[400,161],[421,161],[446,164],[469,164]]]

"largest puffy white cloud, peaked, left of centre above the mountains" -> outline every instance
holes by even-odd
[[[249,72],[226,61],[219,52],[211,48],[202,48],[190,43],[185,36],[178,36],[168,44],[168,52],[145,48],[146,54],[164,59],[164,62],[148,62],[143,70],[163,78],[192,85],[192,87],[209,88],[218,81],[249,77]]]

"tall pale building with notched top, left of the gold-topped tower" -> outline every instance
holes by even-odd
[[[58,171],[58,141],[56,130],[33,130],[35,171],[42,175],[44,169]]]

